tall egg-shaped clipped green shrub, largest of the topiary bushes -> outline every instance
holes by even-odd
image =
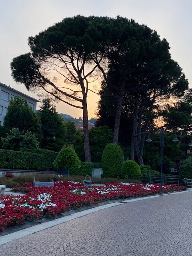
[[[124,163],[124,155],[120,146],[107,144],[102,154],[103,178],[117,178],[120,176],[121,166]]]

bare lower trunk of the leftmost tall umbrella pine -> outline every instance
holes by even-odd
[[[84,97],[82,101],[83,106],[83,139],[84,139],[84,152],[85,162],[91,162],[91,152],[89,144],[89,127],[88,127],[88,111],[87,111],[87,98]]]

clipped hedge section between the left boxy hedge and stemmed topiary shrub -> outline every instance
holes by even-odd
[[[27,149],[26,152],[30,153],[36,153],[43,155],[43,161],[44,161],[44,170],[58,170],[53,165],[53,161],[56,159],[58,156],[58,152],[54,152],[52,150],[47,150],[47,149]]]

